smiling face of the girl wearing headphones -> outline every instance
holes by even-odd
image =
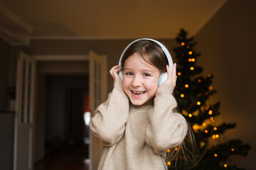
[[[122,88],[134,106],[150,104],[158,89],[160,71],[134,53],[124,62]]]

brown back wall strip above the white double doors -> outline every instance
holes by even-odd
[[[160,40],[166,47],[172,49],[176,42],[174,40]],[[107,55],[107,69],[110,70],[115,64],[118,64],[122,50],[132,42],[132,40],[31,40],[28,47],[13,47],[11,58],[12,78],[9,84],[15,83],[16,77],[16,56],[18,51],[24,50],[31,55],[88,55],[90,50],[97,52],[99,55]],[[112,77],[107,77],[108,92],[112,90]]]

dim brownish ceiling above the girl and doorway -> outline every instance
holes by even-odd
[[[195,35],[227,0],[1,0],[0,36],[31,39],[174,38]]]

